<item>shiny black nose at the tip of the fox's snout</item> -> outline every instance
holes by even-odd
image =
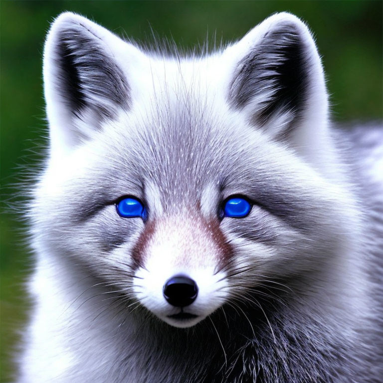
[[[197,284],[191,278],[182,275],[170,278],[164,285],[165,299],[176,307],[191,305],[197,294]]]

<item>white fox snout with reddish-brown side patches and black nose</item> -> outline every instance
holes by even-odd
[[[176,327],[192,326],[220,307],[228,248],[218,230],[218,224],[196,214],[148,223],[133,252],[141,279],[138,300]]]

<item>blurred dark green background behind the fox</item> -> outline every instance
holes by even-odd
[[[336,121],[382,121],[382,1],[1,1],[1,199],[16,197],[23,168],[35,169],[45,145],[41,56],[49,23],[63,10],[79,12],[122,36],[172,37],[192,48],[216,32],[241,37],[276,11],[305,20],[323,57]],[[32,257],[21,216],[1,214],[1,382],[12,382],[28,299],[23,282]]]

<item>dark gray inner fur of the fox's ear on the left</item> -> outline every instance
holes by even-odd
[[[61,23],[56,32],[54,62],[57,91],[75,116],[86,108],[113,118],[129,108],[129,85],[105,42],[81,21]]]

